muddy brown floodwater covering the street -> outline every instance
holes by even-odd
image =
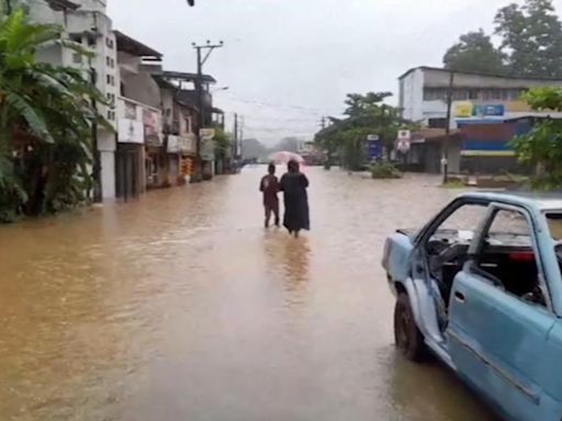
[[[396,354],[380,268],[457,192],[306,169],[294,240],[262,228],[263,171],[0,228],[0,419],[492,420]]]

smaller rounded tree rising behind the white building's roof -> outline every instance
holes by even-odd
[[[443,57],[447,69],[501,73],[505,71],[503,55],[481,29],[461,35]]]

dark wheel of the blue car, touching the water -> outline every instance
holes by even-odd
[[[412,361],[420,361],[425,355],[424,337],[417,328],[414,311],[406,294],[398,295],[394,308],[394,340],[398,350]]]

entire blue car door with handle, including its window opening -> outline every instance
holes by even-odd
[[[446,335],[458,373],[509,419],[560,421],[541,389],[557,318],[533,226],[526,209],[491,204],[454,278]]]

